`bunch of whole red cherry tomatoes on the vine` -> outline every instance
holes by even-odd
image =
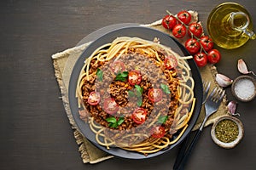
[[[174,37],[183,38],[189,35],[185,48],[193,55],[196,65],[203,67],[208,62],[218,63],[221,54],[213,48],[212,39],[203,34],[203,27],[200,23],[191,20],[191,14],[186,10],[180,11],[177,15],[168,12],[162,20],[162,26],[171,30]]]

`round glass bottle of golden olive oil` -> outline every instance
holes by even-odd
[[[214,8],[207,20],[207,31],[221,48],[238,48],[256,38],[250,14],[238,3],[222,3]]]

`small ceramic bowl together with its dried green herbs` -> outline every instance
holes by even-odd
[[[212,140],[220,147],[230,149],[239,144],[243,137],[243,125],[234,116],[222,116],[212,125]]]

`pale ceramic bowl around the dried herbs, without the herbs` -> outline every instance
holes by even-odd
[[[230,143],[224,143],[224,142],[220,141],[216,137],[216,134],[215,134],[215,128],[218,125],[218,122],[221,122],[226,119],[236,122],[236,125],[238,126],[238,136],[234,141],[232,141]],[[216,122],[214,122],[214,124],[212,125],[211,136],[212,136],[212,140],[216,144],[218,144],[218,146],[223,147],[225,149],[231,149],[231,148],[234,148],[236,146],[236,144],[239,144],[239,142],[241,141],[241,139],[243,137],[243,133],[244,133],[243,125],[239,119],[237,119],[234,116],[222,116],[222,117],[218,118],[218,120]]]

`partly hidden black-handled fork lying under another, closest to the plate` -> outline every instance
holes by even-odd
[[[202,98],[202,105],[203,105],[203,104],[206,103],[207,96],[208,96],[208,93],[209,93],[209,89],[210,89],[210,86],[211,86],[211,82],[210,81],[207,81],[207,82],[203,81],[202,85],[203,85],[203,98]],[[186,147],[189,144],[189,136],[190,136],[190,133],[184,139],[180,150],[178,150],[177,158],[176,158],[176,161],[174,163],[173,168],[176,168],[179,165],[180,161],[182,160],[182,158],[184,156],[184,153],[185,153],[185,150],[186,150]]]

